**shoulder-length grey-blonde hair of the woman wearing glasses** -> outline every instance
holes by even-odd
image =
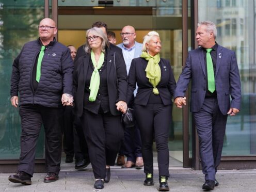
[[[108,42],[108,40],[107,40],[106,34],[104,34],[103,30],[102,30],[101,28],[99,28],[99,27],[92,27],[92,28],[90,28],[90,29],[88,29],[88,30],[86,31],[85,52],[86,52],[86,53],[91,53],[91,47],[90,47],[89,42],[88,42],[88,39],[87,39],[88,34],[89,34],[90,32],[93,33],[93,34],[95,34],[95,35],[97,35],[97,36],[99,36],[99,37],[101,38],[101,41],[102,41],[102,44],[101,44],[101,51],[102,51],[103,53],[105,53],[105,48],[106,48],[106,47],[109,47],[109,42]]]

